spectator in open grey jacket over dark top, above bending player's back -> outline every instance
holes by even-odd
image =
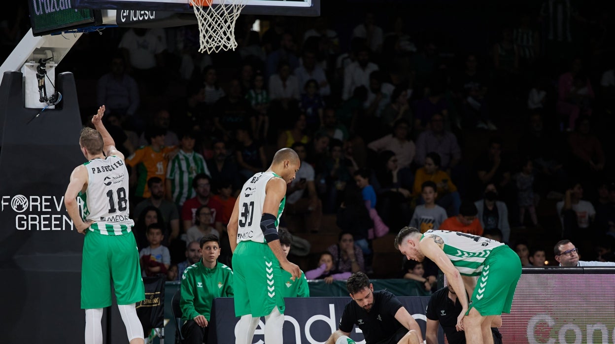
[[[498,188],[494,183],[485,187],[483,199],[474,202],[478,210],[478,220],[483,230],[498,229],[502,233],[502,242],[509,242],[510,223],[508,222],[508,207],[506,203],[498,201]]]

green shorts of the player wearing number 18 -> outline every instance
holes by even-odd
[[[111,281],[118,305],[145,299],[139,251],[133,233],[86,231],[81,263],[81,308],[111,306]]]

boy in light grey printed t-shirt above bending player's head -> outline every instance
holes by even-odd
[[[429,230],[438,230],[444,220],[446,220],[446,210],[435,204],[438,197],[437,186],[431,180],[421,184],[421,197],[424,203],[416,206],[414,214],[410,220],[410,226],[418,228],[421,233]]]

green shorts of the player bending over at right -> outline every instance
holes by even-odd
[[[472,307],[482,316],[510,313],[519,278],[521,260],[515,251],[506,245],[493,249],[478,276],[466,314]]]

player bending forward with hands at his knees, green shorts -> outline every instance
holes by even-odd
[[[425,257],[438,265],[456,291],[461,312],[457,329],[466,331],[466,342],[493,343],[491,323],[510,313],[512,297],[521,277],[521,261],[506,244],[454,231],[426,231],[404,227],[395,247],[408,259]],[[475,276],[480,276],[477,286]],[[467,295],[472,295],[468,302]]]

